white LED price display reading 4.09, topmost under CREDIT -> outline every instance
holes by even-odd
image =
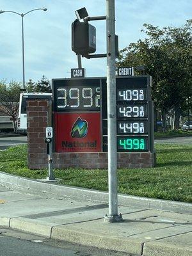
[[[125,100],[125,101],[147,100],[147,90],[146,89],[117,90],[116,99]]]

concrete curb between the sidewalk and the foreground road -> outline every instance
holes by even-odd
[[[4,225],[3,225],[4,224]],[[40,223],[36,220],[29,220],[22,217],[0,218],[0,225],[8,228],[15,228],[31,234],[36,234],[52,239],[59,239],[71,243],[83,244],[85,246],[95,246],[116,252],[129,253],[129,255],[142,256],[190,256],[191,248],[189,246],[176,246],[172,243],[163,243],[163,241],[144,241],[142,238],[132,239],[131,237],[106,236],[104,234],[94,234],[93,232],[84,232],[83,230],[74,230],[63,225],[49,225]]]

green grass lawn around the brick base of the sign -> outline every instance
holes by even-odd
[[[156,168],[119,169],[118,193],[182,202],[192,202],[192,145],[156,144]],[[47,176],[47,170],[29,170],[27,146],[0,151],[0,171],[32,179]],[[54,170],[61,184],[108,190],[107,170]]]

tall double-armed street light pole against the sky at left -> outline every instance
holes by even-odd
[[[47,8],[44,7],[44,8],[33,9],[29,12],[33,12],[33,11],[36,11],[36,10],[47,11]],[[26,82],[25,82],[25,63],[24,63],[24,24],[23,24],[23,18],[29,12],[18,13],[18,12],[13,12],[13,11],[3,11],[3,10],[1,10],[0,14],[4,13],[4,12],[12,12],[12,13],[15,13],[15,14],[17,14],[21,17],[21,21],[22,21],[22,90],[25,91],[26,90]]]

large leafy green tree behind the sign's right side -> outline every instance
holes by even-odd
[[[117,65],[147,67],[147,74],[153,77],[152,98],[162,113],[163,127],[168,111],[173,109],[178,129],[180,111],[191,95],[192,20],[181,28],[143,26],[148,37],[123,49]]]

